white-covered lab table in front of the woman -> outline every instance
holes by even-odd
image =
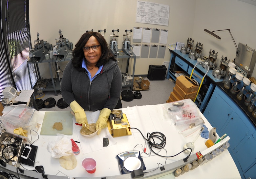
[[[184,144],[192,141],[194,137],[185,138],[181,134],[179,134],[179,131],[177,130],[176,126],[172,125],[171,121],[164,116],[163,109],[165,105],[166,104],[134,106],[134,107],[124,108],[122,109],[122,112],[126,114],[127,119],[130,123],[130,126],[132,128],[138,128],[145,137],[147,136],[147,133],[152,133],[152,132],[163,133],[166,136],[166,146],[164,147],[165,150],[162,149],[159,152],[159,154],[165,156],[167,153],[168,156],[172,156],[181,152]],[[38,123],[42,124],[44,114],[45,114],[45,111],[35,111],[32,116],[32,119],[33,118],[38,119]],[[209,122],[206,120],[206,118],[202,115],[201,112],[200,112],[200,115],[202,116],[206,127],[210,131],[212,129],[212,126],[209,124]],[[75,119],[73,118],[73,120],[74,120],[73,135],[70,137],[72,137],[75,141],[77,141],[79,140],[79,137],[75,132]],[[103,137],[106,137],[107,132],[108,130],[107,128],[105,128],[104,130],[102,130],[100,135],[96,135],[94,137],[95,138],[100,137],[100,139],[102,138],[103,140]],[[162,166],[162,165],[164,165],[166,169],[165,171],[164,170],[160,171],[160,169],[157,169],[152,172],[148,172],[144,174],[145,178],[147,177],[157,178],[167,174],[169,174],[169,178],[174,178],[173,174],[170,174],[173,172],[173,170],[168,170],[170,168],[173,168],[173,167],[170,167],[170,165],[175,163],[176,161],[179,161],[185,158],[187,154],[182,152],[181,154],[175,157],[169,157],[169,158],[160,157],[155,155],[154,153],[151,153],[150,156],[146,155],[145,153],[143,153],[145,140],[143,139],[139,131],[137,131],[136,129],[131,129],[131,132],[132,132],[132,135],[115,137],[114,140],[116,141],[116,144],[113,144],[101,150],[96,150],[94,152],[90,152],[86,154],[83,154],[81,150],[81,145],[78,143],[78,146],[81,152],[80,154],[75,155],[77,160],[77,166],[73,170],[66,170],[60,166],[59,159],[52,158],[51,153],[47,151],[47,145],[49,141],[55,140],[56,135],[40,135],[40,128],[39,128],[38,130],[39,139],[33,144],[38,146],[37,155],[35,158],[35,161],[37,161],[38,163],[35,163],[35,166],[42,165],[44,167],[45,174],[48,175],[48,178],[72,178],[72,177],[75,177],[76,179],[79,177],[81,178],[82,177],[131,178],[130,174],[121,175],[121,172],[119,171],[119,168],[118,168],[118,161],[116,159],[116,155],[122,152],[136,150],[142,153],[141,155],[143,156],[143,161],[145,163],[147,172],[154,170],[158,168],[158,166]],[[32,133],[32,141],[35,139],[36,139],[36,135]],[[206,140],[207,139],[202,138],[201,136],[198,137],[198,139],[195,142],[195,150],[193,153],[196,153],[198,151],[201,151],[201,152],[205,150],[207,151],[207,147],[204,144]],[[158,151],[158,150],[155,149],[155,151]],[[149,153],[149,152],[150,152],[150,149],[147,146],[146,153]],[[84,170],[84,168],[81,165],[82,160],[87,157],[91,157],[96,160],[96,163],[97,163],[96,172],[93,174],[88,173],[86,170]],[[34,167],[30,167],[26,165],[22,165],[22,166],[28,170],[34,169]],[[26,173],[29,174],[29,172],[32,172],[32,171],[25,171],[25,174]],[[225,150],[223,153],[213,158],[211,161],[203,164],[202,166],[197,167],[194,170],[184,173],[177,178],[180,178],[180,179],[184,179],[184,178],[236,179],[241,177],[230,153],[228,152],[228,150]]]

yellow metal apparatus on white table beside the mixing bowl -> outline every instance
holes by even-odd
[[[122,110],[113,110],[107,121],[109,133],[113,137],[131,135],[131,126]]]

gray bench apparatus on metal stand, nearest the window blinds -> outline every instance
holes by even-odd
[[[50,50],[53,50],[53,45],[39,39],[39,33],[36,34],[37,38],[34,40],[34,47],[29,50],[29,58],[32,61],[42,61],[46,54],[49,54]],[[32,59],[33,58],[33,59]]]

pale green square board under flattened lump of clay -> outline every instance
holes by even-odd
[[[73,133],[73,115],[70,111],[49,111],[45,112],[44,120],[41,128],[41,135],[56,135],[65,134],[72,135]],[[61,122],[63,129],[53,129],[55,122]]]

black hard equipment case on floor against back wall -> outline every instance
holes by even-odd
[[[149,80],[164,80],[166,67],[164,65],[149,65],[148,79]]]

